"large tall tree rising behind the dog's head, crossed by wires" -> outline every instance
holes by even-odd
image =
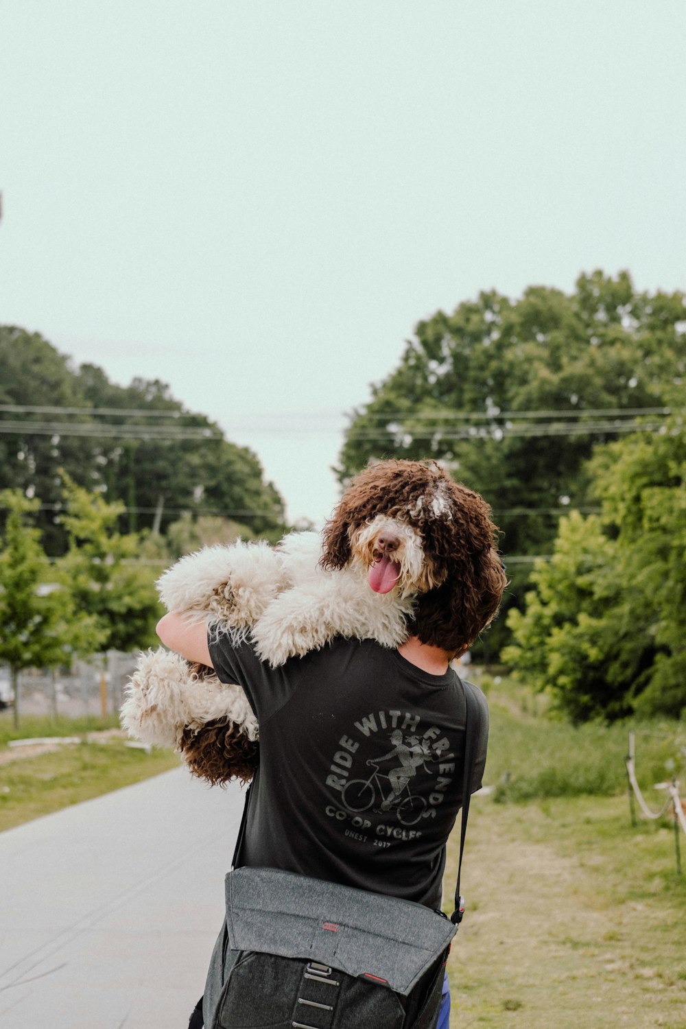
[[[626,273],[602,272],[571,295],[533,286],[438,311],[354,413],[339,477],[369,460],[435,458],[492,504],[506,563],[550,554],[559,518],[597,504],[585,467],[594,443],[621,432],[593,410],[669,405],[686,374],[685,318],[681,293],[639,292]],[[504,612],[521,605],[528,567],[508,567]],[[501,616],[493,650],[504,636]]]

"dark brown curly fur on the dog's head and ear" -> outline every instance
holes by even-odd
[[[326,524],[322,566],[345,568],[356,528],[377,514],[421,534],[440,583],[420,594],[409,632],[448,651],[471,644],[495,617],[507,586],[489,504],[435,461],[380,461],[352,480]]]

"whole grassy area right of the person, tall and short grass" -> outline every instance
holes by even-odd
[[[452,1026],[684,1029],[686,837],[678,877],[672,820],[631,825],[626,726],[550,722],[516,688],[490,701],[496,788],[470,809]],[[678,764],[679,726],[640,729],[641,786],[657,808],[649,787]]]

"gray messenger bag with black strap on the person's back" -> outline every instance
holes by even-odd
[[[480,718],[464,691],[470,731],[450,919],[292,872],[234,867],[225,879],[226,919],[202,1001],[205,1029],[433,1029],[464,911],[460,867]],[[244,832],[245,813],[237,855]]]

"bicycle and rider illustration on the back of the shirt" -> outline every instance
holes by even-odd
[[[426,761],[431,757],[431,751],[417,736],[403,740],[399,729],[391,734],[391,743],[394,747],[388,754],[367,761],[372,769],[369,778],[349,780],[341,799],[349,811],[368,811],[373,805],[378,805],[374,810],[381,814],[395,808],[402,825],[414,825],[424,814],[427,802],[412,793],[409,783],[420,768],[429,771]],[[399,762],[397,766],[391,767],[386,774],[380,771],[382,761],[394,759]]]

